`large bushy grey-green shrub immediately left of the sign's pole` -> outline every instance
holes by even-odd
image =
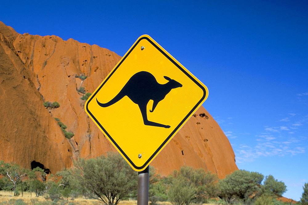
[[[118,153],[80,159],[72,170],[85,194],[108,205],[116,205],[137,189],[137,173]]]

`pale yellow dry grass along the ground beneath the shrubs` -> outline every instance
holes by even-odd
[[[39,205],[103,205],[99,200],[97,199],[85,199],[84,197],[79,197],[74,200],[59,200],[58,203],[51,203],[50,199],[46,199],[44,196],[36,197],[35,193],[32,193],[32,196],[29,192],[24,192],[23,196],[21,196],[21,193],[19,196],[14,196],[14,192],[12,191],[0,191],[0,204],[3,205],[14,205],[14,201],[17,199],[22,199],[26,205],[33,204],[33,201],[35,204]],[[11,200],[11,201],[10,201]],[[32,200],[32,201],[31,201]],[[6,203],[9,202],[10,203]],[[46,203],[49,202],[49,203]],[[157,202],[158,205],[172,205],[170,202]],[[123,200],[120,201],[119,205],[137,205],[136,200]],[[214,205],[214,204],[203,204],[203,205]]]

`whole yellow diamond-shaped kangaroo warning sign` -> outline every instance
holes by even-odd
[[[142,171],[207,96],[200,80],[142,35],[96,88],[85,110],[128,164]]]

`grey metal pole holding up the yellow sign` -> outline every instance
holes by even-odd
[[[137,205],[148,205],[149,203],[149,166],[138,172]]]

